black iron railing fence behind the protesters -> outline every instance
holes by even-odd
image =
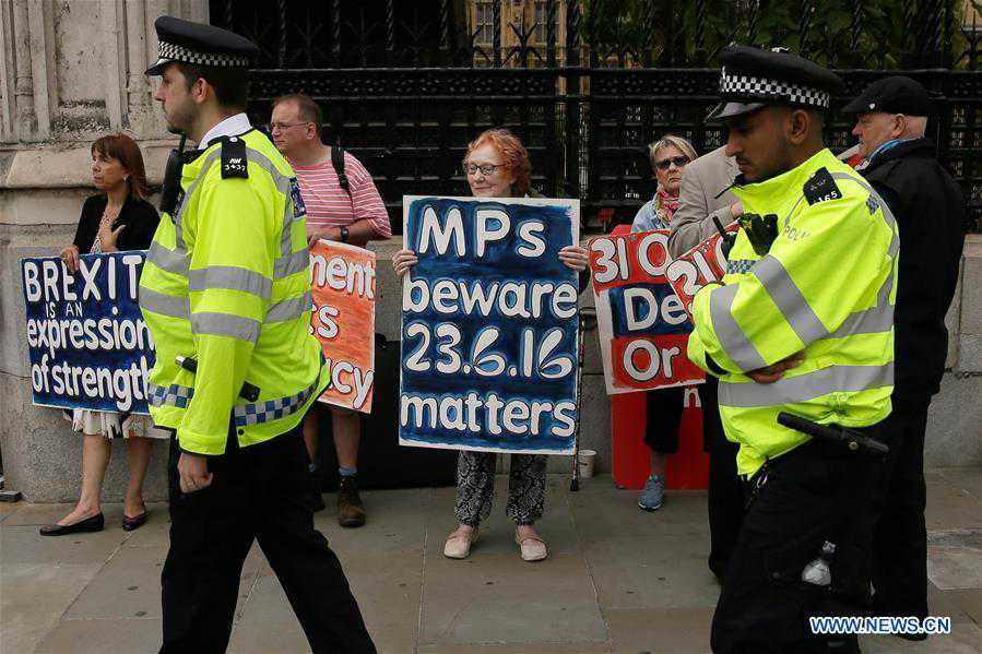
[[[930,136],[978,229],[982,25],[966,24],[967,1],[212,0],[211,20],[260,46],[255,118],[277,95],[315,97],[327,139],[365,163],[397,229],[403,194],[466,192],[466,143],[499,126],[528,146],[533,185],[579,198],[589,228],[601,210],[629,221],[653,190],[647,143],[723,143],[703,118],[731,41],[836,68],[848,87],[836,106],[886,74],[920,80],[937,98]],[[851,124],[831,118],[828,143],[843,150]]]

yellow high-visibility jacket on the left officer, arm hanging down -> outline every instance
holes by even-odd
[[[150,411],[182,450],[222,454],[229,418],[240,447],[269,440],[328,384],[310,333],[306,212],[289,164],[256,130],[201,151],[180,185],[140,280],[157,355]],[[197,373],[178,355],[197,359]],[[258,401],[239,396],[245,381]]]

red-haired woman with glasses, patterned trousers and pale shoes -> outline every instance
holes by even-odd
[[[507,130],[487,130],[471,142],[463,162],[471,192],[476,198],[522,198],[530,192],[531,164],[521,142]],[[589,261],[587,250],[567,246],[559,250],[559,259],[569,269],[584,271]],[[392,264],[400,276],[418,263],[412,250],[400,250]],[[461,450],[457,468],[457,503],[454,513],[460,522],[443,546],[443,555],[464,559],[477,540],[481,521],[490,514],[495,485],[494,452]],[[546,556],[545,542],[535,531],[545,501],[544,454],[512,454],[506,513],[516,522],[516,542],[525,561],[540,561]]]

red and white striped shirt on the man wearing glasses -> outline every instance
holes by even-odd
[[[307,206],[307,228],[346,227],[367,218],[378,238],[392,236],[389,214],[382,203],[371,176],[362,162],[348,152],[344,153],[344,173],[351,187],[351,198],[338,182],[338,173],[331,158],[313,166],[293,164],[300,187],[300,197]]]

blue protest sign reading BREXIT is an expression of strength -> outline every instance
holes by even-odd
[[[145,414],[153,338],[137,289],[144,252],[23,259],[34,403]]]

